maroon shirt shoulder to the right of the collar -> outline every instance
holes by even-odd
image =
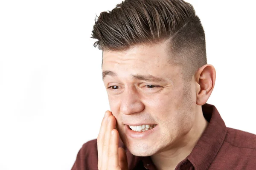
[[[224,142],[211,169],[253,170],[256,167],[256,135],[227,127]]]

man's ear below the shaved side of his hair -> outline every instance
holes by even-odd
[[[195,74],[196,104],[204,105],[212,94],[215,85],[216,71],[212,65],[204,65]]]

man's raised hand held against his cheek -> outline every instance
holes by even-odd
[[[107,111],[97,138],[99,170],[128,170],[125,150],[118,148],[119,134],[115,127],[116,118]]]

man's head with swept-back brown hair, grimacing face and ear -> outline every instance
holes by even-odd
[[[131,153],[149,156],[185,145],[215,82],[193,7],[182,0],[125,0],[100,14],[92,38],[103,50],[111,111]],[[133,136],[127,125],[138,124],[157,126]]]

